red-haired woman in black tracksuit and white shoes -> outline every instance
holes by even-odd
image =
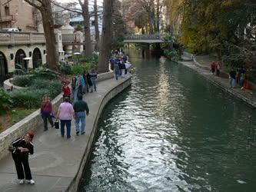
[[[28,131],[24,137],[19,137],[12,142],[12,159],[15,162],[19,184],[25,184],[25,180],[29,184],[35,184],[28,164],[28,154],[34,154],[34,144],[32,143],[34,136],[32,131]]]

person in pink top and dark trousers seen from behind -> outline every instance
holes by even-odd
[[[75,113],[72,105],[68,102],[68,98],[65,98],[65,101],[60,104],[58,107],[57,119],[61,121],[61,134],[64,137],[65,126],[67,127],[67,138],[71,137],[71,120],[72,116],[75,119]]]

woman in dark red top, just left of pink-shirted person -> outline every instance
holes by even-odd
[[[43,101],[41,104],[41,116],[44,121],[44,131],[48,131],[47,119],[53,127],[52,121],[52,102],[47,94],[43,97]]]

